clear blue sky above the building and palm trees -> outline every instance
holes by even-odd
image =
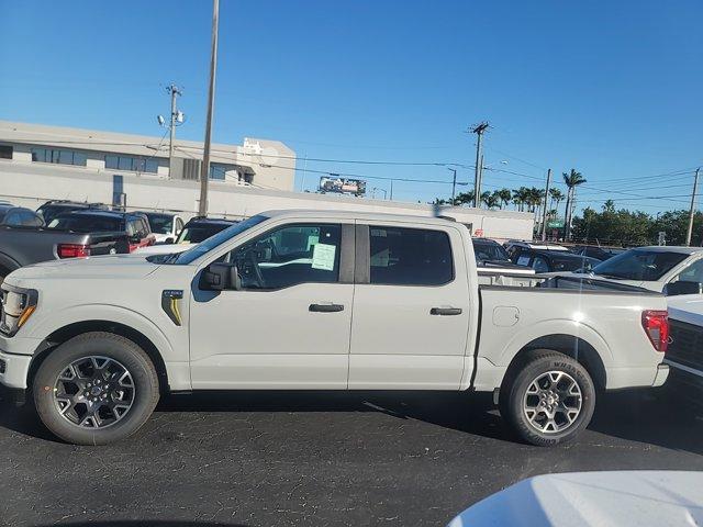
[[[211,15],[208,0],[0,0],[0,119],[160,135],[174,81],[188,115],[179,136],[201,141]],[[280,139],[300,158],[472,165],[465,130],[489,120],[486,165],[520,173],[487,171],[489,190],[573,167],[588,179],[581,205],[683,209],[703,164],[701,20],[699,0],[221,0],[214,139]],[[368,177],[369,189],[388,189],[371,177],[451,177],[306,167]],[[666,172],[677,173],[652,177]],[[403,201],[449,193],[393,189]]]

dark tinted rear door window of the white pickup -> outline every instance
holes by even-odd
[[[370,283],[442,285],[454,280],[447,233],[371,225],[369,237]]]

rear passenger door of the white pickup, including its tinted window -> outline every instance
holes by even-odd
[[[459,389],[470,310],[458,228],[357,223],[350,389]]]

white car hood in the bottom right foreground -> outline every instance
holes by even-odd
[[[547,474],[467,508],[448,527],[703,525],[703,472]]]

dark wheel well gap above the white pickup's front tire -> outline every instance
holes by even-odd
[[[67,340],[77,337],[78,335],[90,332],[113,333],[115,335],[129,338],[138,347],[141,347],[144,352],[148,355],[149,359],[152,359],[154,368],[156,368],[156,373],[158,375],[159,382],[159,391],[161,393],[166,393],[168,391],[168,375],[166,373],[166,365],[164,363],[161,354],[159,354],[154,343],[152,343],[152,340],[149,340],[144,334],[137,332],[136,329],[130,326],[125,326],[124,324],[119,324],[110,321],[77,322],[75,324],[64,326],[46,337],[34,354],[34,359],[32,360],[30,372],[27,375],[27,388],[32,386],[36,371],[54,349],[56,349],[59,345],[66,343]]]

